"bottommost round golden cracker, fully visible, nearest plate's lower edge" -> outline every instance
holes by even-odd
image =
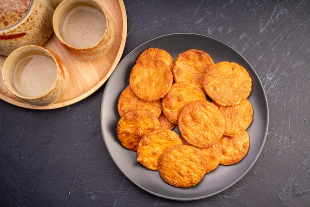
[[[175,187],[191,187],[201,181],[206,172],[206,159],[198,148],[178,145],[167,149],[159,160],[159,174]]]

